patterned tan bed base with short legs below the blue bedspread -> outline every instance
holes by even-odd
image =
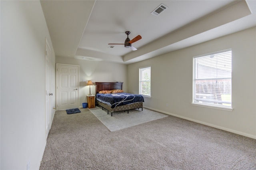
[[[129,113],[129,110],[131,109],[140,109],[143,111],[143,103],[142,102],[137,102],[137,103],[131,103],[128,105],[122,105],[122,106],[117,106],[115,108],[111,108],[110,105],[107,105],[105,103],[102,103],[98,100],[96,100],[96,104],[100,105],[103,108],[105,108],[108,112],[111,112],[111,116],[113,112],[118,112],[118,111],[127,111],[127,113]]]

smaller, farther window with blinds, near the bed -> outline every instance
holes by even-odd
[[[151,96],[150,88],[151,67],[144,67],[139,69],[139,94],[144,96]]]

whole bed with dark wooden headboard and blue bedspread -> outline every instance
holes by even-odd
[[[144,98],[142,95],[135,95],[135,94],[125,93],[125,92],[112,93],[112,95],[110,95],[110,93],[102,94],[102,91],[110,91],[114,89],[119,89],[122,91],[123,83],[95,82],[95,85],[96,85],[96,88],[95,88],[96,105],[101,106],[102,110],[106,109],[108,111],[108,114],[109,112],[111,112],[111,116],[113,115],[114,112],[117,112],[117,111],[127,111],[127,113],[129,113],[129,110],[131,109],[140,109],[140,108],[143,111]],[[120,92],[120,91],[115,91],[115,92]],[[121,98],[122,101],[116,102],[117,99],[114,99],[115,96]],[[132,98],[134,99],[132,100]]]

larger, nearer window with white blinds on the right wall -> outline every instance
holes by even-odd
[[[231,108],[231,49],[193,57],[193,103]]]

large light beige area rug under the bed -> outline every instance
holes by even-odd
[[[127,111],[114,112],[113,116],[111,116],[111,113],[108,115],[108,111],[106,111],[106,109],[102,110],[101,107],[95,107],[89,110],[102,122],[103,125],[105,125],[106,128],[108,128],[110,132],[168,117],[168,115],[145,108],[143,108],[143,111],[141,111],[141,109],[132,109],[129,113],[127,113]]]

